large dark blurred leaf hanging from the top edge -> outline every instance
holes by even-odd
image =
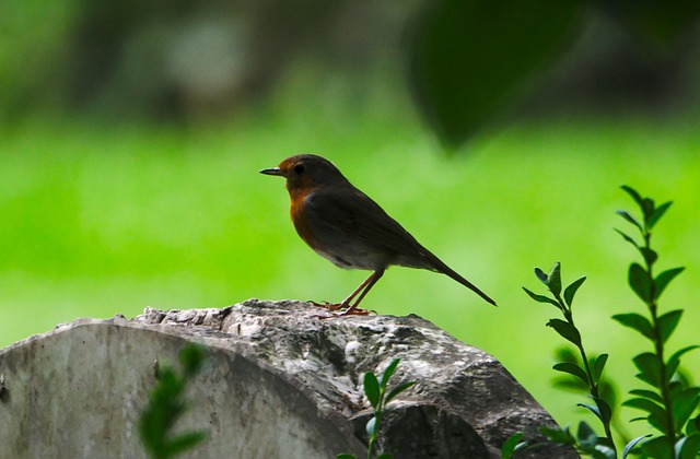
[[[582,19],[575,1],[436,0],[425,5],[413,34],[411,83],[422,114],[450,146],[503,110],[573,38]]]

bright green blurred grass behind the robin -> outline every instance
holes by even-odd
[[[559,117],[503,127],[450,156],[411,115],[293,89],[237,121],[178,126],[40,117],[0,128],[0,345],[78,317],[223,307],[246,298],[338,301],[366,272],[313,254],[289,221],[283,181],[258,170],[299,152],[327,156],[423,245],[495,298],[444,275],[390,269],[363,306],[417,314],[481,348],[561,423],[581,396],[551,388],[545,327],[557,317],[525,285],[559,260],[588,280],[574,314],[609,375],[637,385],[630,357],[649,345],[609,317],[641,311],[627,287],[635,255],[614,233],[619,190],[675,201],[657,227],[660,267],[685,266],[662,308],[685,308],[669,345],[700,340],[700,131],[691,120]],[[280,102],[281,101],[281,102]],[[700,377],[698,355],[686,366]],[[626,417],[638,413],[623,412]]]

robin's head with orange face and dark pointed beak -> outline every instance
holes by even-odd
[[[284,177],[290,193],[348,183],[330,161],[315,154],[298,154],[288,157],[278,167],[262,169],[260,174]]]

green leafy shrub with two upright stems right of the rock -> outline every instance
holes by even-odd
[[[661,220],[670,207],[670,202],[656,205],[651,198],[642,198],[634,189],[622,186],[622,189],[632,197],[641,210],[642,219],[633,217],[627,211],[618,211],[627,222],[640,231],[642,242],[638,243],[633,237],[616,229],[626,242],[632,244],[640,252],[643,264],[633,262],[628,271],[628,282],[632,291],[639,296],[649,311],[649,317],[641,314],[619,314],[612,318],[619,323],[632,328],[649,339],[653,344],[653,352],[643,352],[632,358],[639,373],[637,378],[645,382],[649,388],[633,389],[632,398],[625,401],[626,407],[635,408],[646,413],[643,417],[632,421],[645,420],[657,434],[646,434],[628,442],[621,456],[638,454],[644,458],[695,458],[700,452],[700,415],[692,417],[700,402],[700,388],[691,387],[687,378],[678,373],[680,357],[698,345],[689,345],[676,351],[666,358],[665,344],[680,321],[681,309],[675,309],[665,314],[658,311],[658,298],[681,271],[682,268],[673,268],[654,275],[654,267],[658,260],[658,254],[652,248],[652,228]],[[607,362],[607,354],[600,354],[595,358],[588,358],[583,346],[580,330],[575,327],[572,313],[574,295],[585,278],[572,282],[561,294],[560,264],[555,263],[549,274],[540,269],[535,269],[537,278],[547,286],[551,296],[538,295],[524,289],[525,292],[538,303],[547,303],[556,306],[564,316],[564,320],[551,319],[547,325],[553,328],[562,338],[573,343],[581,358],[568,360],[555,365],[555,369],[573,376],[576,385],[583,382],[586,387],[593,404],[579,403],[593,412],[603,425],[605,436],[599,437],[585,422],[579,424],[574,436],[569,426],[551,429],[542,427],[541,432],[551,442],[571,445],[580,454],[595,458],[616,458],[618,451],[612,436],[611,420],[614,404],[600,396],[600,382],[603,370]],[[650,438],[651,437],[651,438]],[[527,448],[522,442],[522,434],[515,434],[503,446],[503,457],[510,458],[516,451]]]

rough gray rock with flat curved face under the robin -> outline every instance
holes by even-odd
[[[223,309],[133,320],[80,319],[0,351],[2,457],[144,457],[137,422],[154,362],[186,342],[210,360],[178,429],[209,431],[189,457],[366,456],[366,372],[401,363],[378,449],[395,458],[491,458],[515,432],[556,424],[489,354],[418,316],[319,320],[301,302],[256,299]],[[185,455],[188,457],[188,455]],[[576,457],[542,447],[532,457]]]

